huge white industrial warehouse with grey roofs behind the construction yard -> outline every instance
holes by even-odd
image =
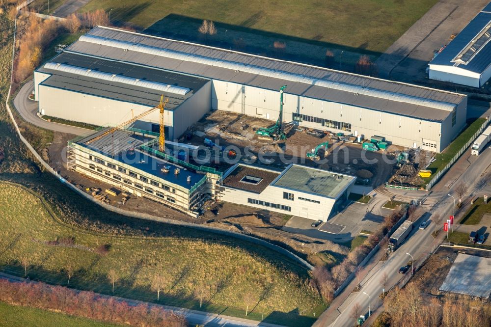
[[[276,120],[345,135],[384,136],[440,152],[463,129],[462,94],[326,68],[96,27],[34,73],[41,114],[114,126],[169,98],[167,138],[209,110]],[[158,113],[135,127],[156,131]]]

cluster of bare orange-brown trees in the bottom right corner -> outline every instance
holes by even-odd
[[[426,299],[413,282],[388,293],[384,307],[386,313],[373,326],[474,327],[489,326],[491,321],[489,303],[452,295]]]

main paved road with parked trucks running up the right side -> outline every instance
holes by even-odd
[[[460,182],[464,182],[468,185],[468,193],[470,196],[482,195],[491,191],[490,185],[486,183],[491,176],[491,149],[487,149],[477,157],[470,157],[469,153],[465,153],[463,157],[463,159],[471,161],[469,168],[466,169],[449,188],[440,188],[439,191],[433,192],[428,196],[426,202],[423,204],[423,208],[427,209],[427,211],[436,211],[441,214],[442,217],[452,215],[453,200],[447,195],[447,193],[456,196],[452,189]],[[452,171],[449,171],[448,173],[452,174]],[[396,192],[399,197],[406,196],[408,198],[413,197],[415,193],[417,193],[415,191],[390,191]],[[420,193],[420,195],[421,194],[422,193]],[[419,224],[420,221],[421,220],[418,220],[416,224]],[[418,260],[418,257],[424,255],[436,246],[436,242],[434,242],[434,239],[431,236],[434,228],[435,225],[434,222],[432,222],[425,230],[413,230],[411,232],[411,237],[391,255],[389,260],[383,264],[376,265],[367,274],[365,279],[363,279],[361,282],[363,287],[362,292],[365,292],[372,297],[372,307],[376,307],[382,302],[379,300],[378,296],[382,293],[380,279],[384,273],[387,273],[389,277],[386,286],[387,289],[395,285],[402,278],[402,275],[398,273],[398,270],[410,260],[410,256],[407,255],[406,252],[412,254],[414,259]],[[437,228],[441,228],[441,226]],[[456,226],[456,230],[459,230],[458,225]],[[350,313],[355,303],[360,304],[362,314],[368,313],[369,298],[362,292],[358,292],[356,295],[348,297],[348,299],[339,306],[339,311],[341,313],[337,318],[335,318],[333,315],[330,317],[321,316],[315,326],[353,326],[354,319],[350,317]]]

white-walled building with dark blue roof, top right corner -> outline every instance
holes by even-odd
[[[491,3],[430,62],[429,78],[482,87],[491,78]]]

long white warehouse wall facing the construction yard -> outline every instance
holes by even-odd
[[[437,144],[436,152],[443,150],[448,145],[447,140],[442,142],[440,139],[442,132],[440,122],[301,97],[289,94],[288,87],[285,90],[283,101],[285,103],[283,107],[284,122],[291,122],[292,113],[297,112],[351,123],[352,129],[351,132],[347,132],[324,127],[320,123],[306,121],[298,122],[301,126],[364,135],[365,138],[373,135],[385,136],[388,141],[409,148],[421,147],[423,139],[431,140]],[[277,120],[279,114],[279,91],[214,80],[212,107],[213,109],[246,113],[274,121]],[[465,113],[463,114],[465,115]],[[446,133],[453,135],[453,131],[446,131]]]

